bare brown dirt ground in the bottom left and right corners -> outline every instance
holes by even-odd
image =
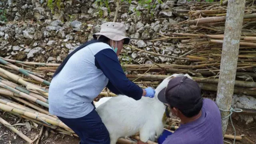
[[[7,112],[0,111],[0,116],[10,124],[25,124],[26,120],[12,116]],[[19,121],[20,120],[20,121]],[[236,133],[238,136],[244,134],[242,141],[236,140],[236,144],[256,144],[256,124],[254,127],[243,128],[243,126],[238,125],[234,120],[234,126],[236,128]],[[40,132],[42,125],[39,125],[37,128],[31,125],[31,130],[29,130],[26,126],[15,126],[19,131],[28,136],[30,139],[34,139]],[[48,133],[48,134],[47,134]],[[234,130],[229,122],[228,129],[226,134],[234,135]],[[47,136],[48,135],[48,136]],[[54,133],[50,129],[44,128],[44,132],[40,139],[39,144],[78,144],[79,138]],[[233,144],[233,140],[225,139],[225,141]],[[253,143],[254,142],[254,143]],[[27,144],[22,138],[20,138],[17,134],[6,128],[4,125],[0,124],[0,144]],[[35,144],[35,143],[34,143]]]

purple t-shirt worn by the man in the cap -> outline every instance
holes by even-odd
[[[218,106],[205,98],[200,118],[180,127],[163,144],[223,144],[221,116]]]

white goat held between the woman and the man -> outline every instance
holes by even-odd
[[[154,98],[142,97],[134,100],[128,96],[101,98],[96,102],[96,111],[102,118],[110,134],[110,144],[116,144],[118,138],[127,138],[139,132],[140,140],[154,141],[155,136],[164,130],[163,116],[166,106],[157,98],[158,93],[167,86],[169,80],[188,74],[173,74],[165,78],[156,88]]]

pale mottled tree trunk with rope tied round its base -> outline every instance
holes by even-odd
[[[236,65],[244,16],[245,0],[228,0],[225,33],[222,45],[220,76],[216,103],[222,110],[230,110],[236,78]],[[230,112],[221,112],[224,118]],[[222,120],[222,134],[226,133],[228,118]]]

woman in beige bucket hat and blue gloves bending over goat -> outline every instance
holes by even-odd
[[[68,54],[54,73],[49,112],[78,134],[80,144],[110,144],[108,130],[95,111],[94,98],[104,87],[135,100],[152,98],[155,91],[140,88],[122,70],[118,56],[123,44],[130,42],[123,24],[104,23],[93,38]]]

